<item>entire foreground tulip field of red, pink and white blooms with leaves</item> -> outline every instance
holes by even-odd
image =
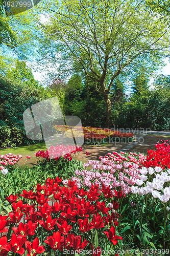
[[[170,145],[155,148],[82,164],[82,147],[51,146],[32,168],[1,155],[0,255],[169,255]]]

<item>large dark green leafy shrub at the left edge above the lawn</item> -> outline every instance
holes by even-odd
[[[0,76],[0,125],[23,127],[23,112],[43,100],[40,90]]]

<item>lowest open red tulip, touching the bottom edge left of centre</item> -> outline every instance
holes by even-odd
[[[27,256],[36,256],[37,254],[42,253],[45,251],[45,246],[39,246],[39,239],[35,238],[33,242],[26,241],[25,242],[26,250],[29,252]]]

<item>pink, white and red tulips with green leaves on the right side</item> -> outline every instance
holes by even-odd
[[[154,154],[156,156],[160,154],[160,159],[154,157],[154,161],[159,165],[154,168],[143,167],[150,165],[150,154],[146,158],[142,154],[130,152],[127,155],[124,152],[120,154],[113,152],[113,154],[108,153],[108,156],[100,157],[101,164],[99,161],[88,160],[84,167],[92,165],[93,171],[76,170],[76,176],[72,177],[72,181],[76,181],[76,185],[80,188],[90,187],[91,183],[98,184],[99,188],[110,186],[112,195],[116,195],[115,188],[122,189],[126,194],[126,200],[123,200],[118,212],[126,222],[124,226],[119,225],[123,230],[119,228],[118,230],[124,234],[124,240],[127,236],[132,236],[129,240],[131,244],[138,244],[139,247],[150,245],[155,249],[169,250],[170,169],[167,162],[162,160],[168,159],[169,148],[157,144],[156,148],[157,150],[152,152],[152,157],[155,156]],[[129,212],[128,217],[127,212]],[[127,218],[131,221],[127,222]]]

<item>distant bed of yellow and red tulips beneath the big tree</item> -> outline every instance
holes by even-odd
[[[57,133],[63,134],[63,138],[72,138],[73,132],[74,136],[78,139],[80,136],[82,136],[80,132],[82,127],[85,144],[100,144],[108,141],[120,142],[120,139],[122,142],[131,142],[133,140],[133,133],[120,133],[119,131],[112,131],[110,129],[96,127],[55,125]]]

